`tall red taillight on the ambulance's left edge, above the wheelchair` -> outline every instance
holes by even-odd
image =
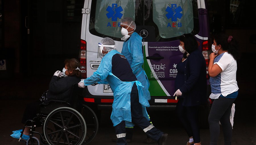
[[[80,58],[82,78],[87,78],[87,74],[86,74],[86,41],[84,41],[84,40],[81,40],[81,42],[80,42],[79,58]]]

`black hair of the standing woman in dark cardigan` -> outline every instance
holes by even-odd
[[[198,48],[197,40],[192,34],[183,34],[179,38],[180,41],[184,42],[185,50],[191,53]],[[187,52],[183,54],[184,58],[187,58]]]

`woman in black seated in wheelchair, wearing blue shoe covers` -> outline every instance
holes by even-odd
[[[26,106],[21,121],[23,124],[25,124],[27,120],[32,120],[36,117],[36,114],[39,113],[39,105],[41,103],[48,103],[49,100],[70,101],[73,84],[81,81],[80,63],[77,59],[66,59],[64,64],[63,72],[56,71],[52,76],[45,99],[40,98],[40,101],[38,100]],[[21,131],[22,130],[13,131],[11,136],[13,138],[20,138]],[[29,134],[30,127],[26,127],[22,139],[28,140]]]

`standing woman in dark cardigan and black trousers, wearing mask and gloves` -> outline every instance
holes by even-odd
[[[191,34],[180,37],[179,50],[184,53],[177,65],[174,96],[179,101],[176,112],[189,141],[187,145],[201,145],[198,124],[198,106],[206,101],[206,63],[197,41]]]

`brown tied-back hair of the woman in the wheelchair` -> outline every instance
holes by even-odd
[[[69,74],[69,76],[76,75],[79,78],[81,77],[81,72],[80,72],[81,66],[77,59],[75,59],[75,58],[66,59],[64,61],[64,64],[67,65],[67,70],[73,71],[72,73]],[[80,70],[77,68],[79,68]]]

